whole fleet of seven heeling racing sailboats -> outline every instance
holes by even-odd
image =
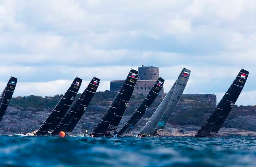
[[[189,81],[191,71],[183,68],[170,91],[166,94],[163,101],[147,121],[144,128],[138,134],[138,137],[158,137],[158,131],[164,130],[166,123],[175,111],[176,105],[180,101],[182,93]],[[195,137],[212,137],[214,133],[218,133],[223,126],[227,116],[235,105],[244,85],[246,83],[249,72],[241,69],[228,91],[225,93],[221,101],[218,103],[214,111],[209,115],[204,125],[195,134]],[[129,105],[131,96],[135,89],[138,79],[138,71],[131,69],[126,77],[123,85],[119,89],[109,109],[102,116],[100,122],[94,128],[90,137],[112,136],[110,132],[114,132],[115,137],[122,137],[126,133],[133,130],[138,121],[150,108],[154,100],[163,88],[164,79],[158,78],[154,86],[151,88],[142,103],[133,112],[129,120],[118,132],[119,124]],[[87,107],[96,93],[100,79],[93,77],[86,89],[80,95],[78,100],[71,107],[80,87],[82,79],[76,77],[66,91],[61,100],[57,103],[40,128],[35,132],[34,136],[63,136],[67,132],[72,132],[85,113]],[[17,84],[17,78],[11,77],[7,86],[0,96],[0,121],[10,103],[12,94]],[[71,108],[69,110],[69,108]]]

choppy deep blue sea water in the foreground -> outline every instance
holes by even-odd
[[[256,138],[0,136],[0,167],[256,167]]]

